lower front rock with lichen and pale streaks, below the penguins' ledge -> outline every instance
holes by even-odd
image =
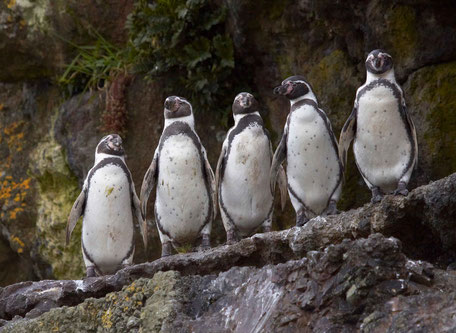
[[[158,272],[76,307],[52,309],[36,319],[16,318],[3,330],[407,332],[420,327],[444,332],[455,328],[454,293],[445,293],[454,289],[455,273],[407,259],[400,241],[380,234],[345,240],[284,264],[201,274]],[[41,291],[50,296],[38,311],[52,306],[54,295],[64,292],[58,286]],[[38,313],[34,311],[28,317]]]

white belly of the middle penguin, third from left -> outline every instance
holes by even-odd
[[[273,197],[269,189],[271,151],[263,128],[252,124],[237,134],[226,161],[221,196],[241,234],[249,234],[268,217]]]

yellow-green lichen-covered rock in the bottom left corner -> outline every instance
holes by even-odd
[[[176,313],[179,281],[177,272],[157,272],[152,279],[138,279],[105,297],[89,298],[74,307],[55,308],[36,319],[17,321],[7,331],[168,332],[166,325]]]

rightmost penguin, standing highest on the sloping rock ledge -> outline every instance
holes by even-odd
[[[358,88],[353,111],[342,128],[339,154],[345,165],[354,140],[356,165],[375,203],[393,191],[408,194],[418,142],[404,93],[395,79],[392,57],[374,50],[365,65],[366,82]]]

